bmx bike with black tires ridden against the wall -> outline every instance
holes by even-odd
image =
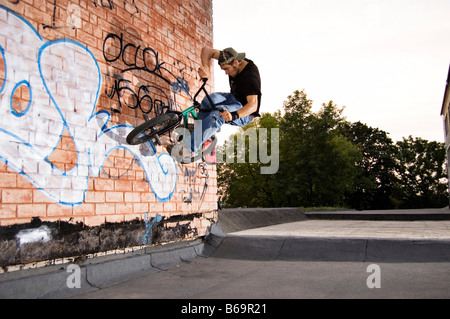
[[[160,135],[172,131],[176,127],[183,122],[184,134],[181,134],[178,137],[178,141],[182,142],[184,136],[189,136],[188,133],[188,125],[189,125],[189,117],[197,119],[197,111],[199,110],[200,103],[197,101],[198,95],[203,91],[208,99],[209,103],[213,106],[212,109],[215,109],[215,104],[213,103],[211,97],[209,96],[205,86],[208,79],[202,79],[203,84],[198,89],[197,93],[193,98],[193,105],[185,109],[184,111],[174,111],[167,110],[166,113],[157,116],[153,119],[147,120],[141,125],[137,126],[127,135],[127,143],[130,145],[138,145],[148,141],[151,141],[154,144],[162,145],[161,140],[159,138]],[[174,157],[181,164],[189,164],[198,160],[203,160],[204,162],[208,162],[206,156],[212,155],[214,152],[214,148],[217,144],[216,136],[213,135],[210,140],[204,143],[199,151],[196,153],[190,154],[189,156],[181,156],[176,154]]]

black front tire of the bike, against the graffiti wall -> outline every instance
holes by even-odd
[[[127,136],[127,143],[138,145],[151,140],[156,134],[164,134],[179,123],[178,115],[166,113],[142,123],[132,130]],[[148,131],[148,132],[146,132]]]

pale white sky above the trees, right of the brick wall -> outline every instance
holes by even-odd
[[[443,142],[450,64],[448,0],[213,0],[214,46],[247,53],[262,77],[263,112],[305,90],[349,121]],[[215,67],[216,91],[229,91]],[[225,130],[228,132],[227,130]]]

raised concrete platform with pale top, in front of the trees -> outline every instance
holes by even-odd
[[[449,262],[448,215],[448,210],[337,216],[295,208],[222,210],[204,252],[260,261]]]

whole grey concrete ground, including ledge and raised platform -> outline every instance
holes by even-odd
[[[389,214],[381,220],[382,211],[336,212],[339,219],[324,219],[324,214],[295,209],[221,211],[219,224],[205,242],[91,260],[81,264],[80,288],[67,288],[71,275],[67,266],[41,269],[40,274],[36,270],[30,275],[1,274],[0,294],[3,298],[450,297],[448,209],[403,211],[400,220]],[[369,220],[367,215],[378,217]],[[370,268],[373,265],[378,272]],[[369,287],[372,275],[378,276],[380,288]]]

